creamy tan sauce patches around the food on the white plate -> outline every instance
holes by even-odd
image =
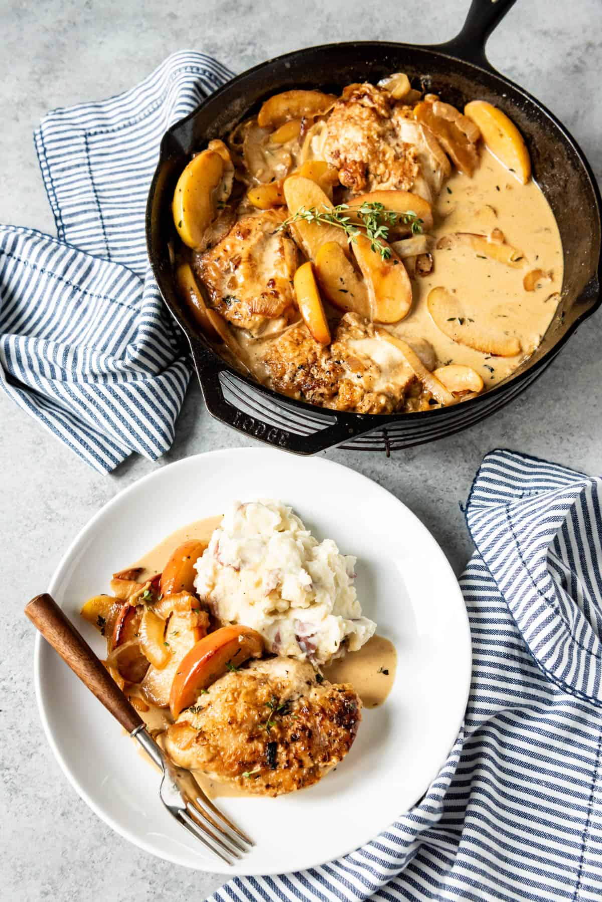
[[[144,568],[140,579],[148,579],[156,573],[161,573],[171,552],[182,542],[186,542],[190,538],[197,538],[208,543],[211,533],[218,527],[220,520],[221,516],[194,520],[188,526],[176,529],[170,536],[163,538],[158,545],[155,545],[132,564],[132,566]],[[383,636],[373,636],[359,651],[348,654],[346,658],[335,661],[326,667],[324,676],[331,682],[351,683],[366,708],[375,708],[384,704],[393,687],[396,660],[397,655],[393,643]],[[140,711],[140,716],[149,731],[155,735],[158,734],[157,740],[161,742],[160,733],[171,723],[169,711],[150,705],[148,711]],[[144,752],[142,754],[147,759]],[[194,775],[199,786],[204,789],[209,798],[248,795],[238,787],[231,787],[212,780],[202,771],[194,771]]]

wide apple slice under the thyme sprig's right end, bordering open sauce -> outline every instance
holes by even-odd
[[[397,323],[412,308],[410,276],[394,251],[384,260],[370,244],[366,235],[357,235],[351,247],[366,280],[372,318],[376,323]]]

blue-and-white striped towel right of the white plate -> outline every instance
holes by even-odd
[[[426,795],[363,849],[213,902],[602,899],[602,479],[495,451],[466,516],[472,685]]]

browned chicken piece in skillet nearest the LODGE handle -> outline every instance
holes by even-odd
[[[431,395],[403,356],[355,313],[338,322],[326,347],[304,324],[289,329],[273,341],[264,365],[276,391],[333,410],[393,413],[429,407]]]

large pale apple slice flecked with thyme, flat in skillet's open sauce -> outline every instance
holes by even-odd
[[[427,307],[435,325],[458,345],[468,345],[496,357],[514,357],[521,352],[521,343],[516,336],[506,336],[501,330],[493,330],[491,325],[481,327],[477,310],[468,313],[456,295],[444,288],[433,288],[429,292]]]

